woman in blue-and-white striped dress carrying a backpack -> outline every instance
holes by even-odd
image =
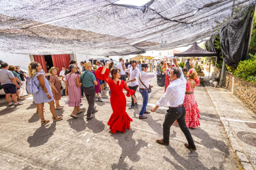
[[[56,115],[53,94],[51,92],[51,88],[49,87],[49,83],[45,78],[40,63],[32,62],[30,65],[28,65],[28,76],[33,79],[35,86],[38,87],[38,92],[33,94],[33,98],[36,103],[38,115],[41,119],[41,125],[49,123],[49,120],[46,120],[43,115],[43,106],[45,103],[49,103],[49,108],[51,110],[51,114],[53,115],[53,121],[59,121],[63,119],[62,116]]]

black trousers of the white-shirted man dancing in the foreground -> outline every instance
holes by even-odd
[[[169,142],[170,127],[174,123],[174,121],[177,120],[177,122],[179,123],[179,128],[181,128],[181,131],[186,136],[187,142],[189,143],[190,147],[195,146],[194,140],[192,139],[189,129],[187,128],[185,123],[185,115],[186,115],[186,110],[184,105],[182,107],[169,108],[169,110],[167,110],[164,123],[163,123],[164,142]]]

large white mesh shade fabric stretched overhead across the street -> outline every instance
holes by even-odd
[[[0,0],[0,51],[128,55],[211,36],[252,0]]]

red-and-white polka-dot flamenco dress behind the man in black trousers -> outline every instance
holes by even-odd
[[[198,77],[195,79],[195,82],[197,83],[197,86],[200,85],[200,79]],[[191,88],[190,81],[187,79],[186,92],[194,92],[194,90],[195,88],[194,89]],[[198,109],[197,102],[195,101],[195,95],[185,94],[183,105],[186,108],[185,121],[186,121],[187,127],[196,128],[200,126],[199,109]]]

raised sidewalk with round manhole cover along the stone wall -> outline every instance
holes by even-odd
[[[244,169],[255,169],[255,114],[231,91],[209,86],[206,89],[242,166]]]

